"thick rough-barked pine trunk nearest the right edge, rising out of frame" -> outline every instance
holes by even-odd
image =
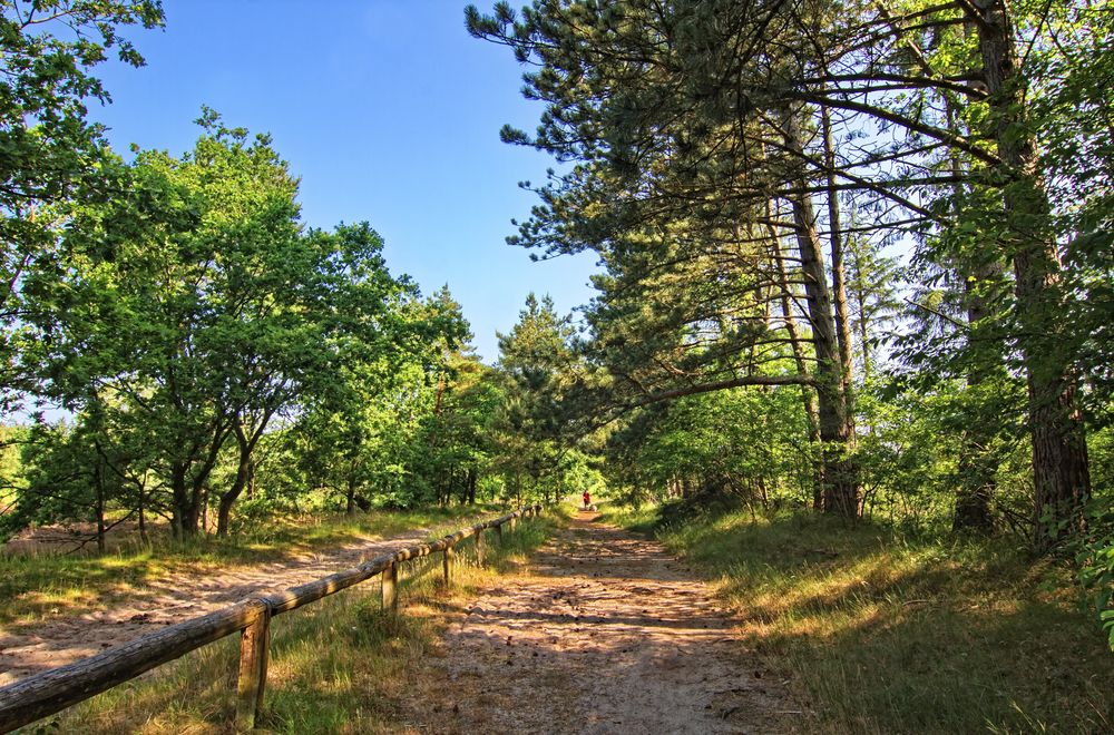
[[[1036,141],[1025,115],[1025,80],[1018,74],[1013,21],[1004,0],[976,0],[976,7],[994,134],[1008,177],[1003,244],[1014,264],[1018,344],[1028,384],[1034,541],[1038,550],[1046,550],[1065,531],[1083,525],[1082,508],[1091,496],[1086,434],[1061,339],[1062,264]]]

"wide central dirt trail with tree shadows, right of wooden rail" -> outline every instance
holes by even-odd
[[[530,569],[450,616],[420,733],[781,733],[801,713],[705,585],[582,512]]]

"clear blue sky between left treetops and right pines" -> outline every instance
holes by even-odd
[[[561,311],[590,297],[589,256],[531,263],[504,238],[553,161],[499,140],[532,130],[510,51],[470,36],[462,0],[165,0],[166,29],[128,36],[147,59],[99,67],[113,105],[94,107],[121,153],[193,147],[202,105],[270,133],[302,179],[310,225],[371,223],[391,272],[426,294],[449,284],[488,362],[527,293]],[[490,3],[477,3],[488,10]]]

